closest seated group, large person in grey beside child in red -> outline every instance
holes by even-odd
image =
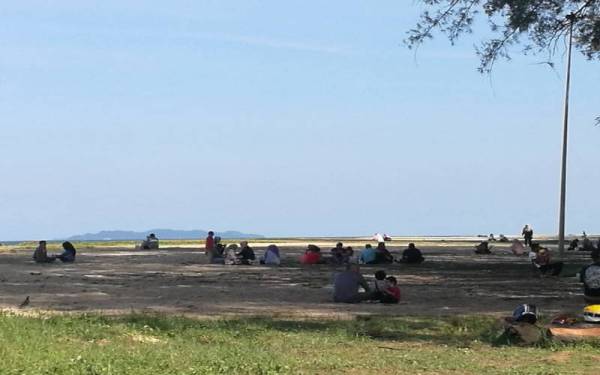
[[[361,288],[363,291],[361,291]],[[395,277],[387,276],[383,270],[377,271],[371,286],[360,273],[360,266],[354,263],[346,265],[346,269],[338,273],[333,282],[334,302],[377,301],[398,303],[400,302],[400,295],[400,288]]]

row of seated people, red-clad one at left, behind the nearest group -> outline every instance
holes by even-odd
[[[390,264],[390,263],[422,263],[425,258],[421,250],[415,247],[414,243],[410,243],[408,248],[402,252],[400,259],[394,259],[394,256],[386,248],[384,242],[379,242],[376,248],[371,244],[366,244],[364,249],[358,255],[354,255],[352,247],[344,247],[342,242],[338,242],[336,246],[330,250],[329,257],[321,253],[321,249],[316,245],[308,245],[304,254],[300,257],[302,264]]]

